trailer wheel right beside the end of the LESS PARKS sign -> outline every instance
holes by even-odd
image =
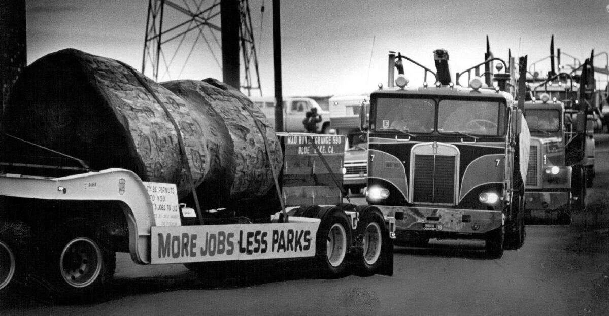
[[[315,256],[326,276],[341,276],[347,270],[347,252],[351,247],[351,225],[339,208],[320,208],[325,213],[317,230]],[[318,217],[319,218],[319,217]]]

